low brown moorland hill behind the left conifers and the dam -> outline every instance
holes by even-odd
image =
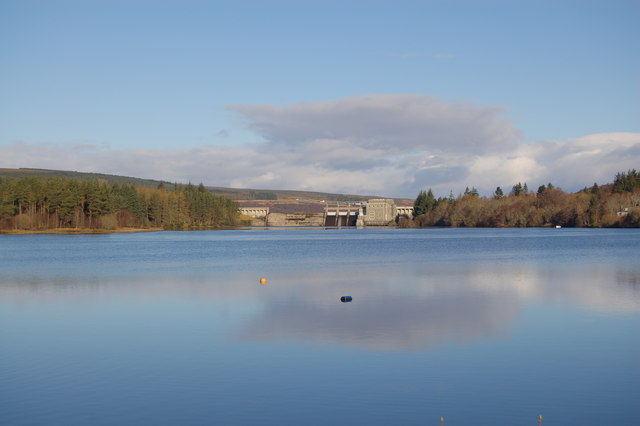
[[[0,177],[60,177],[67,179],[81,180],[104,180],[109,183],[129,184],[157,188],[162,185],[167,189],[173,189],[175,183],[155,180],[142,179],[129,176],[109,175],[103,173],[75,172],[64,170],[47,170],[47,169],[2,169],[0,168]],[[178,183],[184,185],[185,183]],[[279,189],[249,189],[249,188],[223,188],[217,186],[206,186],[207,191],[221,195],[226,198],[238,201],[250,200],[282,200],[282,201],[364,201],[369,198],[381,198],[377,195],[355,195],[355,194],[333,194],[326,192],[312,191],[292,191]],[[405,200],[406,201],[406,200]]]

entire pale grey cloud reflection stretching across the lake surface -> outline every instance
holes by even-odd
[[[506,337],[531,303],[616,315],[640,312],[640,274],[615,265],[470,264],[312,268],[269,276],[177,271],[162,276],[4,277],[2,303],[100,305],[184,301],[241,312],[233,339],[290,340],[363,350],[412,350]],[[344,304],[340,296],[351,295]]]

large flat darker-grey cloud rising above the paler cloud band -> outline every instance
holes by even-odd
[[[517,129],[505,108],[448,104],[423,95],[368,95],[334,101],[230,106],[274,144],[305,147],[333,140],[385,154],[485,153],[512,148]]]

